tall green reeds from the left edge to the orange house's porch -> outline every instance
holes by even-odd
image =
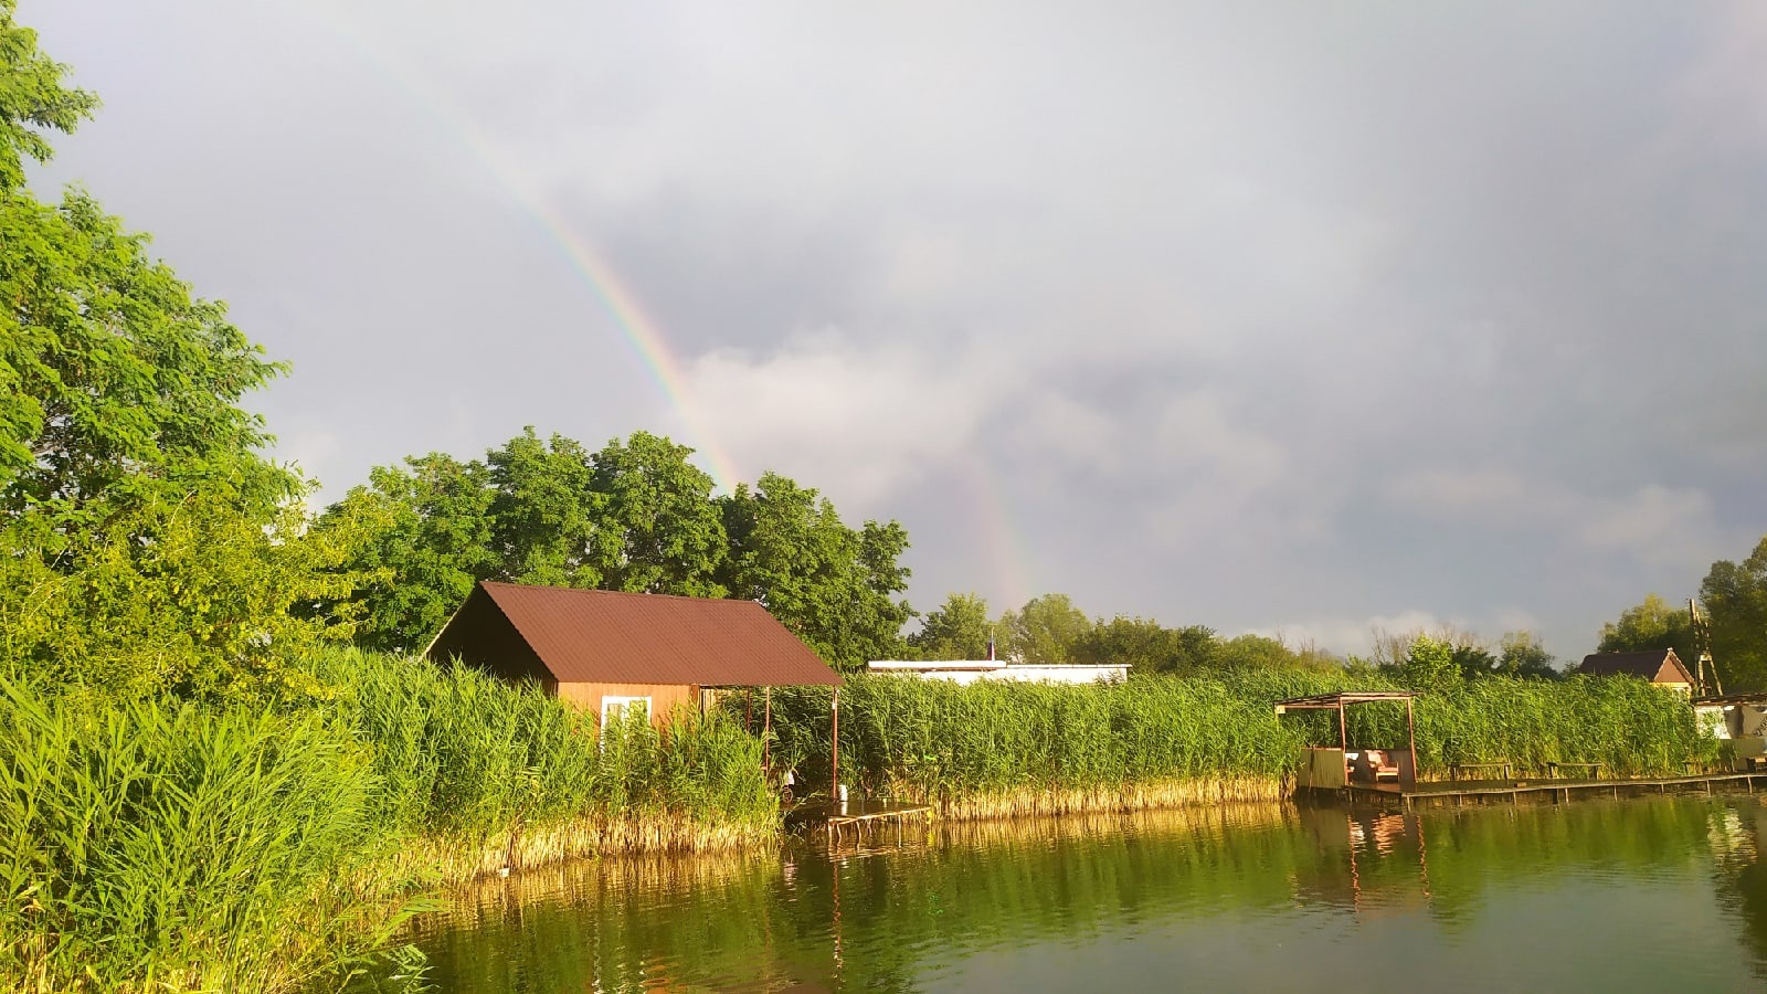
[[[290,990],[502,867],[777,835],[760,743],[684,716],[604,743],[534,692],[315,661],[329,700],[101,702],[0,679],[0,987]]]

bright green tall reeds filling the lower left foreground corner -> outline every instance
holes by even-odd
[[[0,982],[270,990],[329,971],[378,898],[368,750],[318,716],[80,706],[0,679]],[[373,932],[373,929],[369,929]]]

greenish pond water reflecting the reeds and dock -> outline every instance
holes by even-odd
[[[1232,807],[585,861],[422,920],[440,990],[1760,990],[1767,808]]]

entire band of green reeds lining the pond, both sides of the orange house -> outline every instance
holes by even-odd
[[[392,936],[438,888],[779,842],[762,741],[735,700],[595,738],[567,704],[470,670],[339,651],[302,676],[320,690],[230,704],[0,683],[0,983],[292,990],[396,955]],[[841,697],[843,782],[947,821],[1274,801],[1325,730],[1270,704],[1348,681],[861,676]],[[772,759],[800,792],[829,784],[829,704],[774,693]],[[1354,741],[1403,729],[1403,711],[1357,711]],[[1417,743],[1426,776],[1493,753],[1656,773],[1716,748],[1684,702],[1626,679],[1440,690],[1417,704]]]

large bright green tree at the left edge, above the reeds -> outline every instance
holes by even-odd
[[[339,525],[260,455],[240,398],[281,371],[83,191],[25,186],[97,101],[0,0],[0,656],[94,692],[286,690],[348,630]]]

